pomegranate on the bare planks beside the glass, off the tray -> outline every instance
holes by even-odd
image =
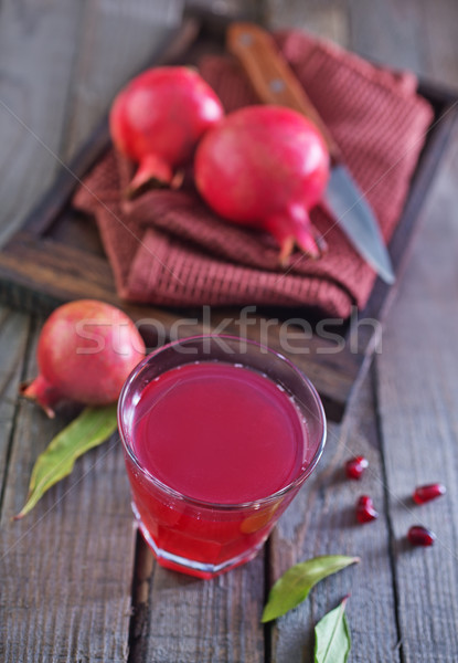
[[[123,311],[95,299],[64,304],[43,326],[36,349],[40,375],[21,387],[21,394],[36,401],[49,417],[54,417],[61,400],[87,406],[115,402],[145,350]]]

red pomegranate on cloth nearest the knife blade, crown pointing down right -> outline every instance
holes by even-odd
[[[309,210],[329,177],[329,154],[318,129],[296,110],[247,106],[203,137],[194,159],[195,183],[221,217],[274,235],[285,263],[295,244],[319,257],[324,241]]]

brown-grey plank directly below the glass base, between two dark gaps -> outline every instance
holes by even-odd
[[[148,594],[134,618],[134,629],[141,620],[142,632],[134,641],[132,663],[264,663],[263,554],[213,580],[151,568]]]

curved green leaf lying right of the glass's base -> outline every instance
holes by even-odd
[[[322,555],[291,567],[271,588],[262,621],[270,621],[296,608],[317,582],[358,561],[359,557]]]

